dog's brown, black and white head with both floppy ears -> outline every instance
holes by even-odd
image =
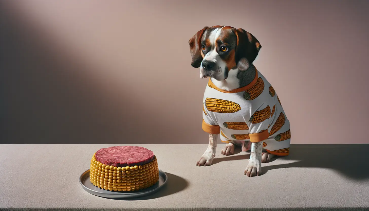
[[[260,42],[242,28],[215,25],[204,27],[189,40],[191,65],[200,67],[200,78],[227,79],[228,71],[245,71],[254,62]]]

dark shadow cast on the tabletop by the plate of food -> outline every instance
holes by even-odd
[[[163,196],[175,194],[179,191],[186,189],[186,187],[188,186],[188,182],[184,178],[176,176],[174,174],[167,173],[167,172],[166,172],[166,175],[168,176],[168,182],[157,193],[154,193],[146,197],[141,197],[141,198],[129,198],[129,199],[112,198],[112,200],[137,201],[137,200],[148,200],[148,199],[160,198]]]

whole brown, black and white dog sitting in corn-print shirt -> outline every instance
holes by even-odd
[[[209,145],[196,166],[211,165],[220,134],[227,143],[221,153],[232,155],[236,146],[251,150],[244,174],[261,175],[261,163],[289,154],[291,135],[277,93],[252,64],[260,42],[242,28],[215,25],[198,31],[189,45],[192,67],[209,78],[202,112]]]

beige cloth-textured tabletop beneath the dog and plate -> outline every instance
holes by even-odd
[[[79,176],[93,153],[116,145],[0,144],[0,210],[369,208],[369,145],[292,145],[290,156],[263,163],[263,175],[249,178],[244,175],[249,153],[223,156],[224,144],[207,167],[196,166],[207,144],[137,144],[152,150],[168,174],[160,192],[137,200],[87,193]]]

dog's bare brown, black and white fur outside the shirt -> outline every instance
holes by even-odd
[[[255,67],[252,64],[261,49],[260,42],[242,28],[216,25],[204,27],[189,40],[191,65],[200,67],[200,78],[210,77],[215,86],[231,91],[252,82]],[[221,49],[227,49],[225,52]],[[224,48],[225,47],[225,48]],[[197,161],[197,166],[210,166],[217,148],[217,134],[209,133],[209,145]],[[273,154],[263,152],[263,142],[231,141],[222,149],[225,156],[234,153],[235,146],[242,151],[251,150],[244,174],[248,177],[261,174],[261,163],[269,162]]]

